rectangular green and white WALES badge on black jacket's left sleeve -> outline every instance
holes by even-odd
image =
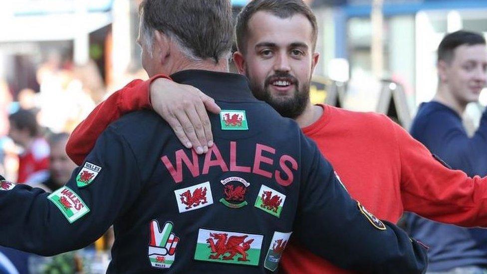
[[[83,200],[68,187],[56,190],[47,199],[56,205],[71,224],[90,211]]]

